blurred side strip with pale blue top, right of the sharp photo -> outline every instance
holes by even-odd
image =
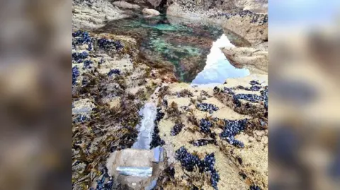
[[[340,1],[268,3],[269,189],[339,189]]]

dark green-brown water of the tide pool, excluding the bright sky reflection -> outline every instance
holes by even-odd
[[[143,57],[173,67],[176,77],[187,83],[203,71],[212,42],[224,33],[216,25],[169,16],[113,20],[98,31],[134,37],[140,42]]]

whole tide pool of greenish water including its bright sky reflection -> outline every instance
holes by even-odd
[[[220,50],[232,45],[230,41],[242,39],[228,32],[225,35],[217,25],[172,16],[134,16],[113,20],[97,32],[134,37],[143,59],[173,66],[175,76],[185,83],[223,83],[227,78],[249,75],[248,70],[229,64]]]

